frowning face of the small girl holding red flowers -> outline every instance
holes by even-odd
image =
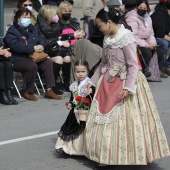
[[[84,80],[88,75],[87,68],[82,65],[75,66],[75,75],[79,81]]]

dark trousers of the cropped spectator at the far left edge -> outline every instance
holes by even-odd
[[[9,89],[13,86],[13,71],[10,61],[0,61],[0,89]]]

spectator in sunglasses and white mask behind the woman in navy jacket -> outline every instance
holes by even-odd
[[[33,8],[33,2],[34,0],[18,0],[17,9],[22,7],[28,8],[31,11],[31,23],[32,25],[35,25],[38,12]]]

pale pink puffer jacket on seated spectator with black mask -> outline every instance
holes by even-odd
[[[137,45],[146,47],[148,45],[156,45],[154,37],[151,17],[146,14],[145,18],[138,15],[134,9],[125,16],[127,24],[132,28]]]

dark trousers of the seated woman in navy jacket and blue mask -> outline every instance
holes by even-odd
[[[34,93],[34,82],[37,76],[37,71],[44,74],[47,89],[55,86],[53,63],[49,59],[39,63],[34,63],[29,59],[23,59],[13,63],[13,70],[24,73],[26,91],[29,93]]]

